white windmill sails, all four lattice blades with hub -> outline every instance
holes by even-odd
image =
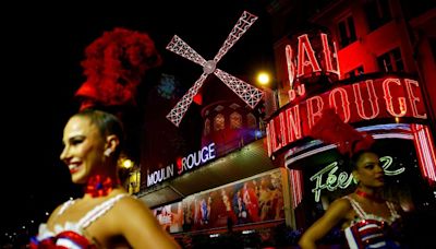
[[[256,15],[244,11],[213,60],[206,61],[179,36],[174,35],[172,37],[171,42],[167,45],[168,50],[203,67],[202,75],[199,75],[194,85],[191,86],[191,88],[183,95],[182,99],[180,99],[167,115],[167,119],[169,119],[174,126],[179,127],[183,116],[192,104],[193,97],[198,93],[204,81],[210,73],[214,73],[216,76],[218,76],[251,108],[254,108],[261,102],[263,97],[263,92],[261,90],[217,68],[219,60],[221,60],[227,51],[229,51],[229,49],[241,38],[241,36],[245,34],[245,32],[256,20]]]

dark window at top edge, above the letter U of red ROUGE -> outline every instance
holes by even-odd
[[[371,0],[365,4],[370,31],[374,31],[392,19],[388,0]]]

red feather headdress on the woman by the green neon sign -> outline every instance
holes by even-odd
[[[360,132],[343,122],[331,108],[323,111],[322,117],[311,129],[311,137],[325,143],[336,144],[341,154],[350,157],[359,151],[368,150],[375,142],[371,134]]]

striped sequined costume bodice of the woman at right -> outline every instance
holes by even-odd
[[[401,248],[395,238],[398,237],[398,221],[400,215],[391,202],[386,201],[389,208],[389,218],[367,214],[358,201],[347,195],[358,217],[344,229],[347,242],[351,249],[362,248]]]

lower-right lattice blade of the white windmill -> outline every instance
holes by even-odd
[[[253,85],[220,70],[216,69],[214,74],[217,75],[229,88],[231,88],[242,100],[251,108],[254,108],[264,95],[264,92]]]

